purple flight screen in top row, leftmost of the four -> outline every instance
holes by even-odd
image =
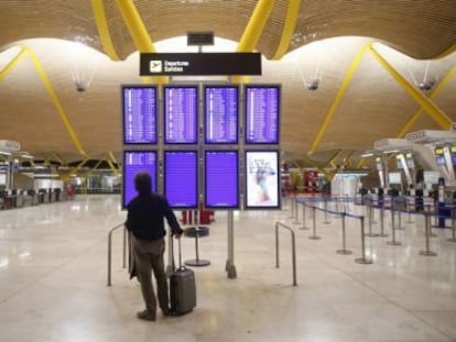
[[[122,86],[123,144],[156,143],[156,87]]]

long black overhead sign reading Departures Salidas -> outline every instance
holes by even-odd
[[[260,53],[140,54],[140,76],[261,75]]]

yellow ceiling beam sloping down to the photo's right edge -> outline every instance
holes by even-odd
[[[431,115],[432,119],[444,130],[448,130],[452,120],[423,92],[417,90],[405,78],[402,77],[374,48],[369,45],[369,53],[380,63],[383,68],[405,89],[405,91]]]

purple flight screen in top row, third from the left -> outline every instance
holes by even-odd
[[[204,95],[206,144],[237,144],[239,88],[205,86]]]

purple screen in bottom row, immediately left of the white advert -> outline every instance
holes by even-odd
[[[205,207],[239,208],[237,151],[205,151]]]

